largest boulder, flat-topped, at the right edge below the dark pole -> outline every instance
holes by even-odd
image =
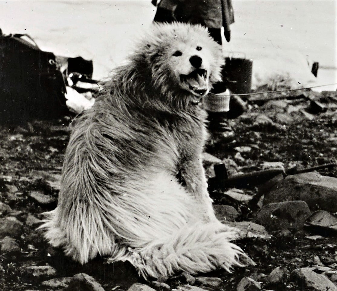
[[[310,172],[286,177],[267,193],[263,205],[273,202],[302,200],[311,210],[337,211],[337,178]]]

